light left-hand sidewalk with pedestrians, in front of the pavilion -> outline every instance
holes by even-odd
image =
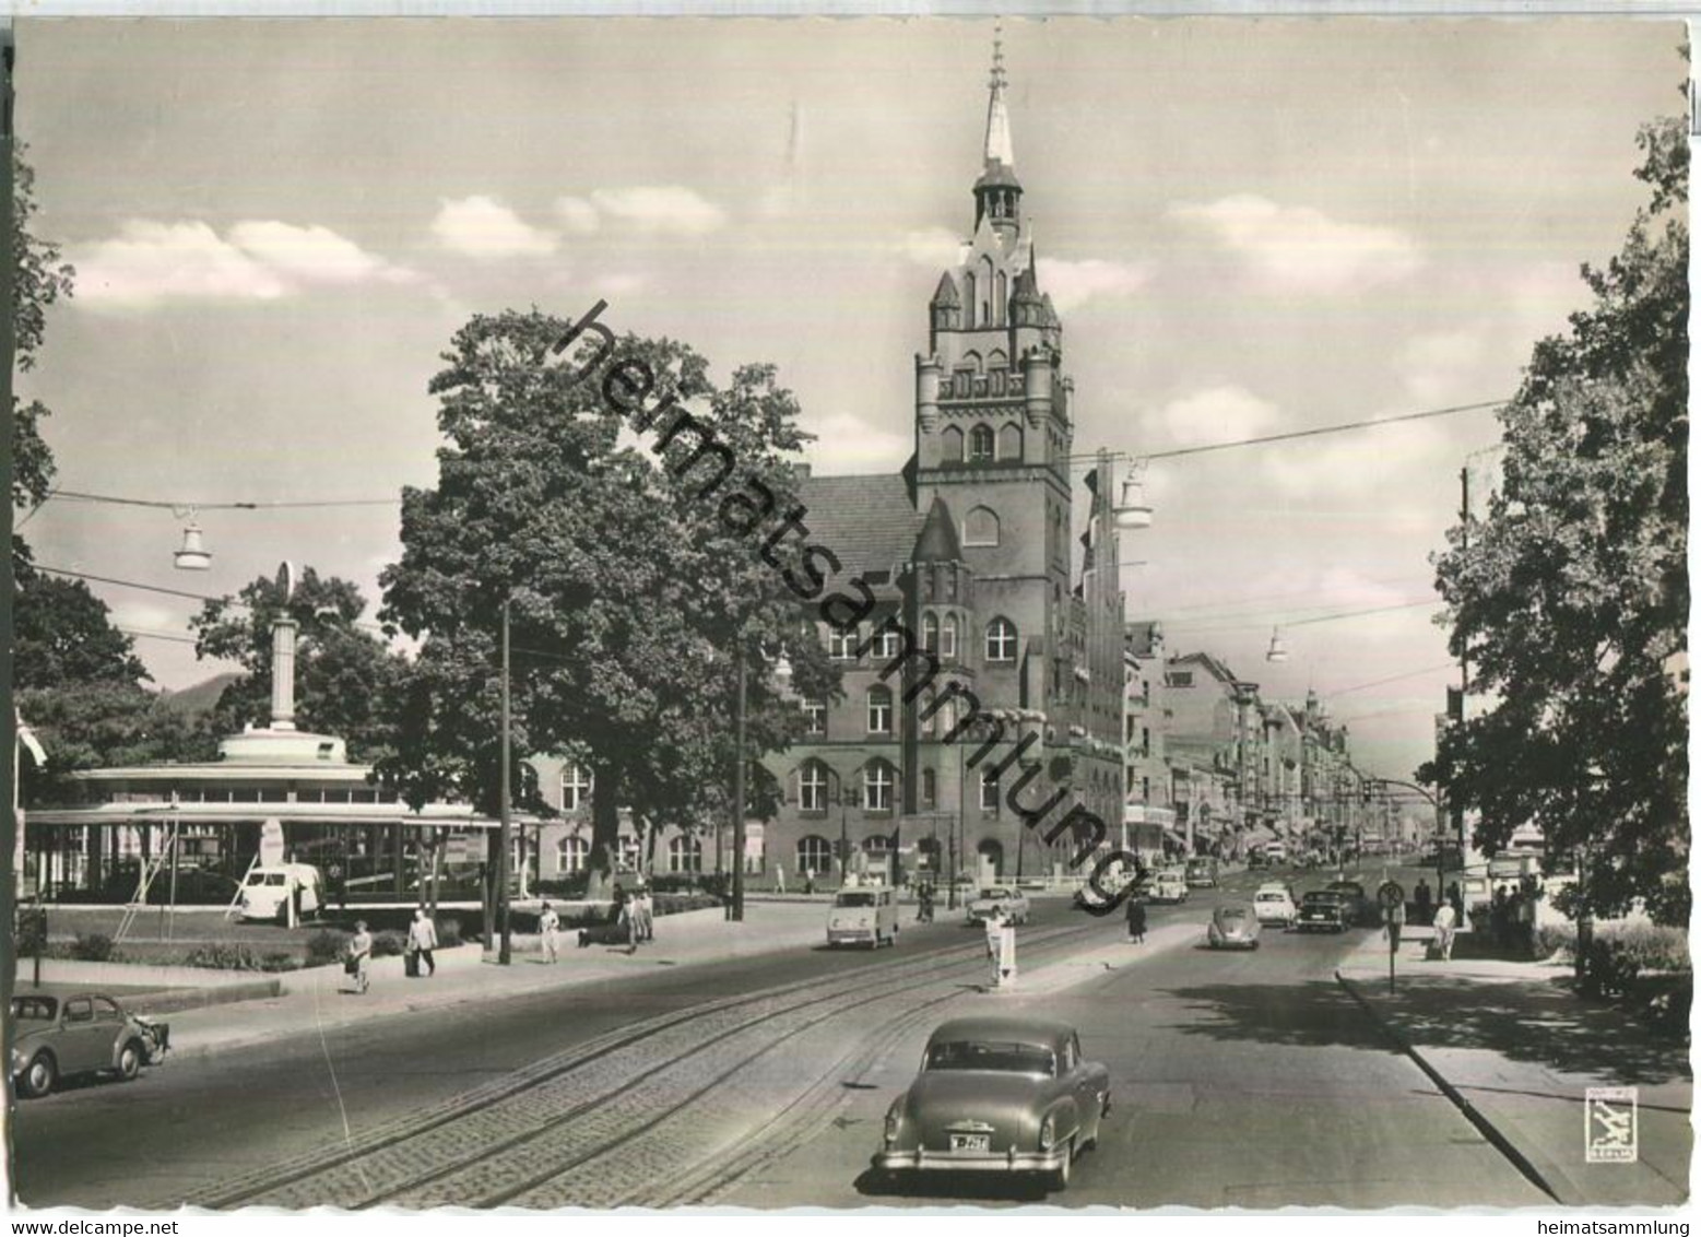
[[[662,915],[655,921],[655,943],[640,946],[636,955],[607,946],[580,949],[578,934],[563,931],[561,960],[555,966],[544,963],[536,936],[514,938],[510,966],[485,963],[478,944],[439,949],[437,973],[430,978],[407,978],[401,958],[374,958],[371,990],[364,997],[354,994],[352,978],[342,966],[287,972],[281,977],[284,992],[279,997],[172,1014],[172,1057],[194,1058],[269,1040],[301,1040],[391,1014],[643,975],[657,966],[796,949],[823,941],[823,924],[815,902],[747,905],[742,924],[728,922],[725,912],[713,907]]]

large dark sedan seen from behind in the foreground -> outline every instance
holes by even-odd
[[[1111,1072],[1082,1058],[1075,1028],[958,1018],[929,1036],[920,1074],[886,1113],[874,1169],[1038,1174],[1063,1189],[1109,1114]]]

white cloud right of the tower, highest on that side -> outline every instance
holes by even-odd
[[[1424,259],[1395,228],[1332,219],[1310,206],[1255,194],[1172,206],[1170,218],[1204,228],[1247,260],[1252,282],[1274,293],[1351,293],[1405,279]]]

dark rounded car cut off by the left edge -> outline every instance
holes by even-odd
[[[12,1082],[20,1096],[46,1096],[60,1079],[111,1070],[122,1080],[155,1065],[170,1026],[126,1012],[112,997],[12,997]]]

